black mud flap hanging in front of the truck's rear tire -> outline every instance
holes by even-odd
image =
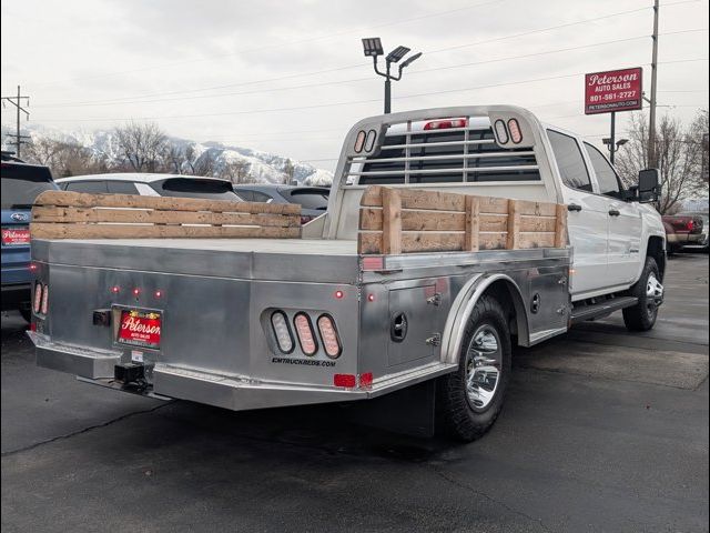
[[[353,423],[393,433],[429,439],[435,432],[436,380],[400,391],[353,402],[345,410]]]

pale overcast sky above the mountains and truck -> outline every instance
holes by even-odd
[[[645,67],[652,0],[70,0],[2,2],[2,95],[63,130],[129,119],[168,133],[276,152],[333,169],[343,135],[382,112],[382,79],[359,39],[424,56],[393,110],[515,103],[599,142],[584,72]],[[659,104],[708,105],[708,0],[662,0]],[[438,69],[438,70],[437,70]],[[484,87],[487,86],[487,87]],[[490,87],[496,86],[496,87]],[[628,115],[628,113],[626,113]],[[13,123],[11,109],[2,123]],[[618,131],[623,134],[625,113]]]

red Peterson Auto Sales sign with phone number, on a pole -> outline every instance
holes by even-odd
[[[643,69],[609,70],[585,76],[585,114],[633,111],[643,107]]]

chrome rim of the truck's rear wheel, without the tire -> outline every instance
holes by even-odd
[[[496,330],[483,324],[471,336],[466,351],[466,399],[470,409],[485,411],[500,383],[503,351]]]

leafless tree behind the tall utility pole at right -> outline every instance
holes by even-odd
[[[707,111],[704,117],[707,124]],[[658,124],[656,154],[661,198],[657,208],[663,214],[678,209],[681,200],[702,194],[703,189],[707,191],[707,180],[702,178],[702,144],[694,138],[694,124],[684,128],[680,120],[669,114]],[[648,168],[648,138],[646,118],[642,113],[632,114],[629,142],[617,154],[617,169],[627,185],[636,184],[639,170]]]

